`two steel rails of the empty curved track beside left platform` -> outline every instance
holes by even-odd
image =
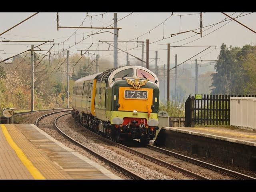
[[[68,112],[69,110],[62,110],[62,111],[58,111],[58,112],[53,112],[53,113],[49,113],[49,114],[45,114],[43,116],[40,116],[37,120],[36,120],[36,123],[35,125],[37,126],[39,121],[42,120],[43,118],[47,117],[47,116],[50,116],[52,114],[56,114],[56,113],[60,113],[60,112]],[[69,114],[69,113],[68,113]],[[66,115],[66,114],[64,114]],[[64,116],[64,115],[61,115],[59,116],[58,118]],[[58,118],[56,118],[54,120],[54,127],[56,128],[56,130],[58,130],[58,132],[68,138],[71,142],[73,142],[74,144],[82,147],[84,150],[86,150],[87,152],[89,152],[90,154],[96,156],[96,158],[102,160],[103,162],[105,162],[106,164],[108,164],[108,166],[110,166],[111,168],[117,170],[118,172],[121,172],[122,174],[124,174],[125,176],[131,178],[131,179],[138,179],[138,180],[144,180],[145,178],[141,177],[141,176],[138,176],[137,174],[135,174],[134,172],[131,172],[130,170],[127,170],[126,168],[108,160],[107,158],[105,158],[104,156],[101,156],[100,154],[90,150],[89,148],[87,148],[86,146],[84,146],[83,144],[81,144],[80,142],[76,141],[75,139],[71,138],[70,136],[68,136],[67,134],[65,134],[64,132],[62,132],[62,130],[60,130],[60,128],[57,126],[56,124],[56,121],[58,120]]]

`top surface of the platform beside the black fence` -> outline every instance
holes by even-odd
[[[166,130],[256,146],[256,132],[226,127],[163,127]]]

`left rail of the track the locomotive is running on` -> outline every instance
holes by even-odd
[[[76,123],[78,124],[78,126],[84,128],[84,126],[82,126],[81,124],[79,124],[77,121],[76,121]],[[191,171],[189,171],[189,170],[186,170],[186,169],[183,169],[183,168],[181,168],[181,167],[178,167],[178,166],[176,166],[176,165],[174,165],[174,164],[170,164],[170,163],[168,163],[168,162],[165,162],[165,161],[159,160],[159,159],[157,159],[157,158],[154,158],[154,157],[152,157],[152,156],[149,156],[149,155],[143,154],[143,153],[141,153],[141,152],[138,152],[138,151],[136,151],[136,150],[134,150],[134,149],[132,149],[132,148],[129,148],[129,147],[127,147],[127,146],[124,146],[124,145],[122,145],[122,144],[120,144],[120,143],[113,142],[113,141],[109,140],[108,138],[104,138],[104,137],[102,137],[102,136],[100,136],[100,135],[98,135],[98,134],[92,132],[91,130],[89,130],[89,129],[87,129],[87,128],[86,128],[85,130],[86,130],[88,133],[90,133],[90,134],[92,134],[92,135],[98,137],[100,140],[102,140],[102,141],[104,141],[104,142],[107,142],[108,144],[111,144],[111,145],[113,145],[113,146],[116,146],[116,147],[118,147],[118,148],[120,148],[120,149],[122,149],[122,150],[125,150],[125,151],[127,151],[127,152],[130,152],[130,153],[132,153],[132,154],[134,154],[134,155],[136,155],[136,156],[139,156],[139,157],[141,157],[141,158],[144,158],[144,159],[146,159],[146,160],[148,160],[148,161],[150,161],[150,162],[153,162],[153,163],[155,163],[155,164],[158,164],[158,165],[160,165],[160,166],[162,166],[162,167],[168,168],[168,169],[170,169],[170,170],[172,170],[172,171],[174,171],[174,172],[181,172],[182,174],[184,174],[185,176],[188,176],[188,177],[190,177],[190,178],[204,179],[204,180],[205,180],[205,179],[206,179],[206,180],[209,179],[209,178],[206,178],[206,177],[204,177],[204,176],[202,176],[202,175],[200,175],[200,174],[196,174],[196,173],[191,172]]]

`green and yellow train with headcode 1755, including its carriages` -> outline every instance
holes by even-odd
[[[158,130],[159,83],[141,66],[123,66],[76,80],[72,116],[90,130],[118,142],[147,144]]]

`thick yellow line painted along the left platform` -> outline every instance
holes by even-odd
[[[22,152],[22,150],[17,146],[17,144],[12,140],[9,132],[6,129],[4,124],[1,124],[2,131],[4,136],[12,147],[12,149],[16,152],[18,158],[20,158],[21,162],[24,166],[28,169],[30,174],[33,176],[34,179],[45,179],[45,177],[41,174],[41,172],[32,164],[32,162],[26,157],[26,155]]]

